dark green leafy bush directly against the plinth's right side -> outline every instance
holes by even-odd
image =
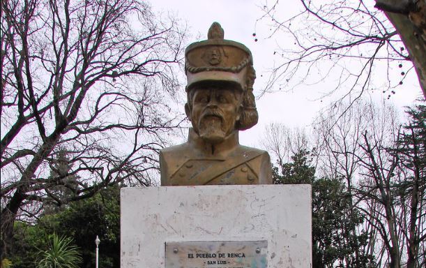
[[[354,232],[363,217],[351,205],[351,195],[339,179],[321,178],[312,183],[313,267],[332,267],[349,260],[351,267],[366,267],[371,258],[358,252],[367,234]]]

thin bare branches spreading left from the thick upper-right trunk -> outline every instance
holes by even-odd
[[[331,88],[324,96],[344,89],[340,99],[353,103],[365,91],[381,90],[390,98],[413,69],[413,62],[417,70],[425,65],[425,40],[418,37],[423,40],[423,54],[417,54],[423,57],[413,59],[411,49],[407,52],[393,24],[374,8],[372,0],[300,3],[301,11],[293,16],[280,11],[287,2],[274,1],[273,5],[263,6],[264,15],[259,20],[271,28],[267,38],[284,33],[291,40],[286,47],[277,40],[275,65],[266,91],[277,84],[280,89],[291,89],[330,77],[327,82]],[[421,72],[418,74],[426,97],[424,80]]]

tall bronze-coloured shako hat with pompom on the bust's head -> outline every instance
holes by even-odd
[[[185,50],[186,90],[199,82],[233,82],[247,91],[254,82],[252,53],[245,45],[224,39],[218,22],[208,29],[208,39]]]

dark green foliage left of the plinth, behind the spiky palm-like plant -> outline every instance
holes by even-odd
[[[104,188],[92,198],[73,202],[56,214],[50,209],[35,225],[15,224],[15,239],[10,248],[13,268],[34,267],[38,248],[46,249],[50,234],[70,237],[79,248],[79,267],[95,267],[95,239],[100,238],[99,266],[120,267],[119,186]]]

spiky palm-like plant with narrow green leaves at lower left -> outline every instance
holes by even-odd
[[[69,237],[59,237],[52,234],[49,237],[49,248],[40,250],[40,260],[37,268],[78,268],[82,258],[77,246],[74,246]]]

